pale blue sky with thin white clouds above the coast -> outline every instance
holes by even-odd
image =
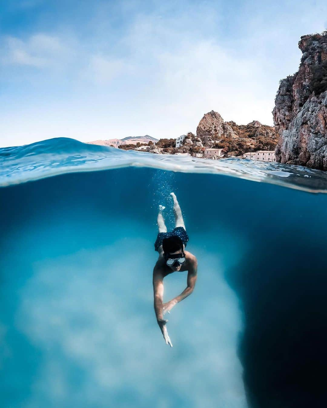
[[[0,146],[196,131],[204,113],[273,125],[317,1],[0,3]]]

